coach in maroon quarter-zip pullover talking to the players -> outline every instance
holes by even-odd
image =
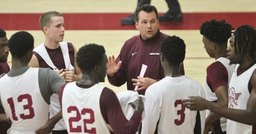
[[[127,82],[127,89],[145,94],[151,84],[164,78],[164,70],[160,63],[161,42],[168,35],[159,31],[159,20],[156,7],[142,5],[135,12],[135,26],[140,35],[133,36],[125,42],[116,61],[114,55],[109,57],[107,78],[114,86]],[[142,65],[146,65],[144,76],[140,76]],[[183,63],[180,72],[184,73]]]

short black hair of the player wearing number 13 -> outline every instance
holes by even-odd
[[[34,38],[26,31],[19,31],[13,34],[8,43],[12,57],[21,58],[26,55],[28,50],[32,50],[34,48]]]

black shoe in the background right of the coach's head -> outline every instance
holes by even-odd
[[[159,16],[158,19],[159,21],[182,21],[183,15],[181,12],[178,14],[170,14],[167,12],[166,14]]]

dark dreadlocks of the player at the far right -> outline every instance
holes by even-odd
[[[249,25],[238,27],[235,32],[234,50],[243,57],[256,58],[256,30]]]

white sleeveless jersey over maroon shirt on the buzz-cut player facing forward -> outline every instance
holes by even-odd
[[[63,54],[66,68],[73,70],[73,72],[74,72],[74,67],[73,67],[73,65],[71,65],[70,58],[69,58],[67,42],[65,42],[65,41],[60,42],[60,47],[61,47],[61,51]],[[55,65],[52,63],[52,60],[47,53],[44,43],[37,46],[33,51],[37,52],[43,58],[43,60],[47,63],[47,65],[49,65],[52,69],[54,69],[55,71],[59,71],[59,69],[57,67],[55,67]],[[52,94],[52,96],[50,98],[50,102],[51,103],[50,103],[50,116],[49,117],[52,118],[54,115],[56,115],[61,110],[60,103],[59,103],[59,95],[56,93]],[[58,131],[58,130],[65,130],[65,129],[66,129],[66,126],[65,126],[64,120],[61,119],[55,125],[53,130]]]

